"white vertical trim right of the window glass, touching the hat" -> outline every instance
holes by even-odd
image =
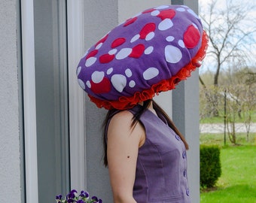
[[[84,54],[84,1],[67,0],[71,187],[86,189],[84,92],[75,74]]]

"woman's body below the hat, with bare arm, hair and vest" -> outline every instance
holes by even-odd
[[[109,111],[105,135],[114,202],[190,202],[188,145],[153,100]]]

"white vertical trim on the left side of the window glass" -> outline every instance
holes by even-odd
[[[33,0],[21,1],[26,203],[38,202]]]

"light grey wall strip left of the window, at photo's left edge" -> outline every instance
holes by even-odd
[[[0,1],[0,202],[21,202],[17,1]]]

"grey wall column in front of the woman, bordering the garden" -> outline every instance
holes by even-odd
[[[197,13],[198,1],[185,0]],[[192,202],[200,202],[200,141],[199,141],[199,80],[198,70],[172,91],[172,120],[185,135],[190,149],[187,151],[187,176]]]

